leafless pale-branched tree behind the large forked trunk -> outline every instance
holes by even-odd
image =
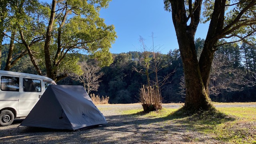
[[[233,68],[232,63],[224,54],[216,53],[210,72],[209,93],[218,96],[223,91],[242,91],[245,86],[255,86],[256,82],[250,80],[253,75],[248,75],[244,70]],[[186,96],[184,77],[181,78],[180,92]]]

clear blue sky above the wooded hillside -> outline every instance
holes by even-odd
[[[40,0],[51,3],[51,0]],[[176,32],[170,12],[164,10],[163,0],[112,0],[108,8],[100,11],[105,23],[115,26],[118,38],[110,51],[115,54],[141,51],[140,36],[147,47],[152,46],[151,34],[154,33],[154,46],[162,54],[178,49]],[[200,24],[196,38],[205,38],[208,25]]]

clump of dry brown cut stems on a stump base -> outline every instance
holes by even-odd
[[[140,88],[140,102],[144,112],[151,112],[162,109],[162,96],[154,86],[143,85]]]

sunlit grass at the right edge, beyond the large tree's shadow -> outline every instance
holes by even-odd
[[[236,144],[256,144],[256,108],[218,108],[221,112],[233,115],[234,122],[226,122],[214,129],[216,139]]]

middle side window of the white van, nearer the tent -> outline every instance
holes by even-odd
[[[30,78],[23,78],[23,91],[41,92],[41,81]]]

